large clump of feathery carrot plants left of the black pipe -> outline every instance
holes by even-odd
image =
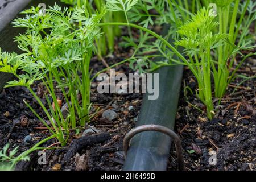
[[[84,6],[69,11],[68,8],[62,10],[55,5],[47,9],[46,15],[40,15],[38,7],[25,10],[22,14],[26,14],[25,18],[15,19],[13,24],[27,29],[24,34],[15,38],[24,53],[16,55],[0,52],[1,71],[13,73],[17,78],[8,82],[5,87],[26,86],[44,110],[53,129],[25,101],[26,105],[65,145],[69,129],[84,126],[89,120],[89,63],[94,39],[101,36],[100,28],[94,24],[101,21],[105,10],[89,15]],[[22,71],[21,75],[16,73],[18,69]],[[49,96],[44,96],[47,106],[31,88],[39,80],[49,93]],[[56,89],[60,90],[63,98],[55,94]],[[81,96],[81,101],[77,96]],[[68,105],[67,117],[61,112],[59,100],[64,100]]]

